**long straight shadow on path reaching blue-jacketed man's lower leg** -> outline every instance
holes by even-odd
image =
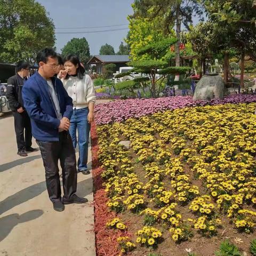
[[[45,181],[42,181],[6,197],[2,202],[0,202],[0,214],[42,194],[44,190],[46,190],[46,183]]]

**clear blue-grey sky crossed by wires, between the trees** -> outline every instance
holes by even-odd
[[[80,28],[128,24],[126,17],[132,14],[133,0],[37,0],[37,2],[49,12],[56,28]],[[55,32],[99,31],[127,27],[126,25],[93,29],[56,29]],[[61,52],[61,48],[73,37],[85,37],[90,45],[91,54],[99,54],[100,46],[106,43],[112,45],[117,52],[127,32],[128,29],[90,34],[56,34],[55,46],[57,51]]]

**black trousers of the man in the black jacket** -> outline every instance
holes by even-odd
[[[32,145],[32,132],[31,123],[27,111],[18,113],[12,111],[14,117],[14,127],[16,133],[16,140],[18,151],[26,150]],[[24,140],[24,129],[25,129],[25,140]]]

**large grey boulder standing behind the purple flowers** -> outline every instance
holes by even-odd
[[[222,99],[224,82],[220,75],[209,74],[203,76],[196,85],[194,100]]]

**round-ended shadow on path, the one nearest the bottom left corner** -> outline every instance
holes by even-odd
[[[12,229],[19,223],[27,222],[39,218],[44,212],[42,210],[32,210],[21,215],[18,213],[10,214],[0,218],[0,242],[7,237]],[[13,241],[14,242],[14,241]],[[16,241],[18,242],[18,241]]]

